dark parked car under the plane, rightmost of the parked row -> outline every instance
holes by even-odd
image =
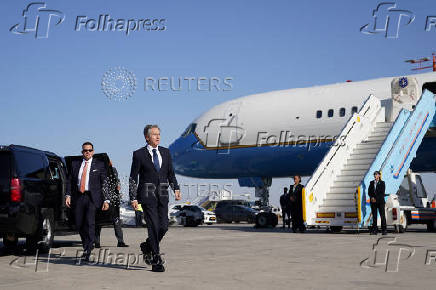
[[[248,222],[255,223],[258,212],[251,207],[239,204],[227,204],[215,209],[218,223]]]

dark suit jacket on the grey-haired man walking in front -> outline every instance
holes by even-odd
[[[156,195],[168,200],[168,187],[171,186],[173,190],[179,189],[170,150],[162,146],[159,146],[158,150],[162,157],[159,172],[154,167],[147,147],[133,152],[129,182],[130,200],[140,203],[154,202]]]

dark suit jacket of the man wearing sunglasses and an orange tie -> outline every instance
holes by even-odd
[[[71,163],[71,172],[68,177],[67,192],[71,194],[72,202],[77,198],[80,192],[78,186],[79,171],[83,160],[75,160]],[[93,158],[89,171],[88,190],[91,192],[91,199],[96,208],[100,208],[103,199],[108,198],[106,168],[103,161]]]

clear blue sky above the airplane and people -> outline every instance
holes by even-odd
[[[42,2],[42,1],[41,1]],[[271,90],[409,74],[404,60],[435,51],[436,28],[425,31],[436,3],[396,1],[413,12],[399,38],[366,35],[380,1],[45,1],[64,22],[48,38],[17,35],[31,1],[2,1],[1,144],[23,144],[60,155],[80,153],[91,140],[121,174],[143,146],[147,123],[162,128],[168,146],[199,114],[236,97]],[[75,31],[77,16],[165,19],[164,31]],[[53,24],[53,23],[52,23]],[[108,99],[103,74],[122,66],[137,78],[125,101]],[[231,91],[145,91],[146,77],[232,78]],[[181,182],[197,182],[179,178]],[[430,180],[431,176],[426,180]],[[239,189],[235,192],[252,192]],[[288,180],[276,180],[272,202]],[[436,183],[431,183],[433,188]]]

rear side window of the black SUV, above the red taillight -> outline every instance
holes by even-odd
[[[24,178],[45,179],[44,159],[39,154],[18,151],[15,152],[18,176]]]

